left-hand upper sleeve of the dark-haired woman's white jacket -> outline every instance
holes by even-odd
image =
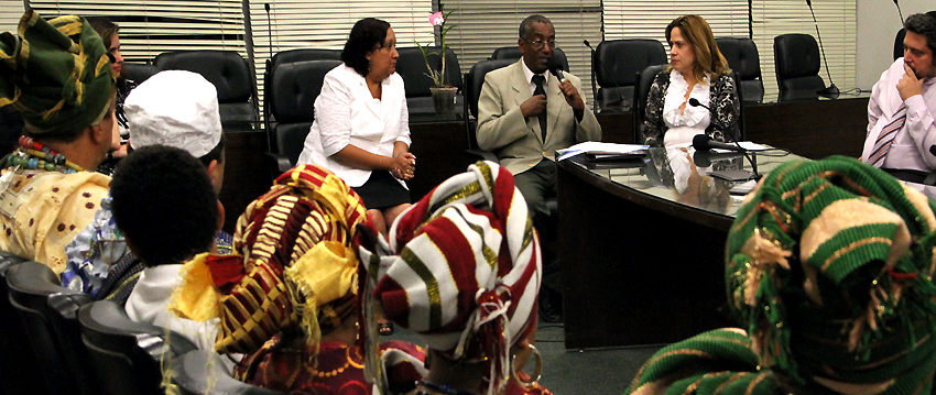
[[[339,66],[340,67],[340,66]],[[328,157],[351,141],[351,89],[328,73],[315,101],[315,122],[322,135],[322,151]]]

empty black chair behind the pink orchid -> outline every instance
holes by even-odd
[[[442,69],[442,57],[438,56],[439,47],[425,46],[423,47],[429,54],[429,66],[434,70]],[[406,107],[411,113],[433,113],[435,105],[433,103],[432,91],[433,80],[428,76],[426,69],[426,61],[423,58],[423,52],[420,47],[401,47],[396,48],[400,57],[396,59],[396,74],[403,78],[403,84],[406,87]],[[450,48],[445,52],[445,81],[446,84],[462,89],[461,68],[458,66],[458,56]],[[456,106],[464,106],[465,97],[456,95]]]

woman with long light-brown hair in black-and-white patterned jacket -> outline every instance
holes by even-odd
[[[685,15],[666,26],[670,67],[660,72],[650,88],[644,117],[644,144],[672,146],[693,142],[707,133],[725,141],[725,130],[738,136],[740,106],[728,62],[699,15]],[[705,107],[693,107],[690,98]],[[720,127],[719,127],[720,125]]]

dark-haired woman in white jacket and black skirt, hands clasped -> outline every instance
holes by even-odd
[[[405,180],[416,169],[398,57],[389,23],[373,18],[355,23],[341,51],[344,64],[325,75],[298,160],[345,179],[382,233],[410,207]]]

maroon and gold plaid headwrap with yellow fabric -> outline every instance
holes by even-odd
[[[355,312],[358,260],[351,249],[364,218],[361,198],[318,166],[283,173],[237,222],[231,255],[185,264],[172,311],[220,319],[219,352],[250,353],[281,331],[322,332]]]

